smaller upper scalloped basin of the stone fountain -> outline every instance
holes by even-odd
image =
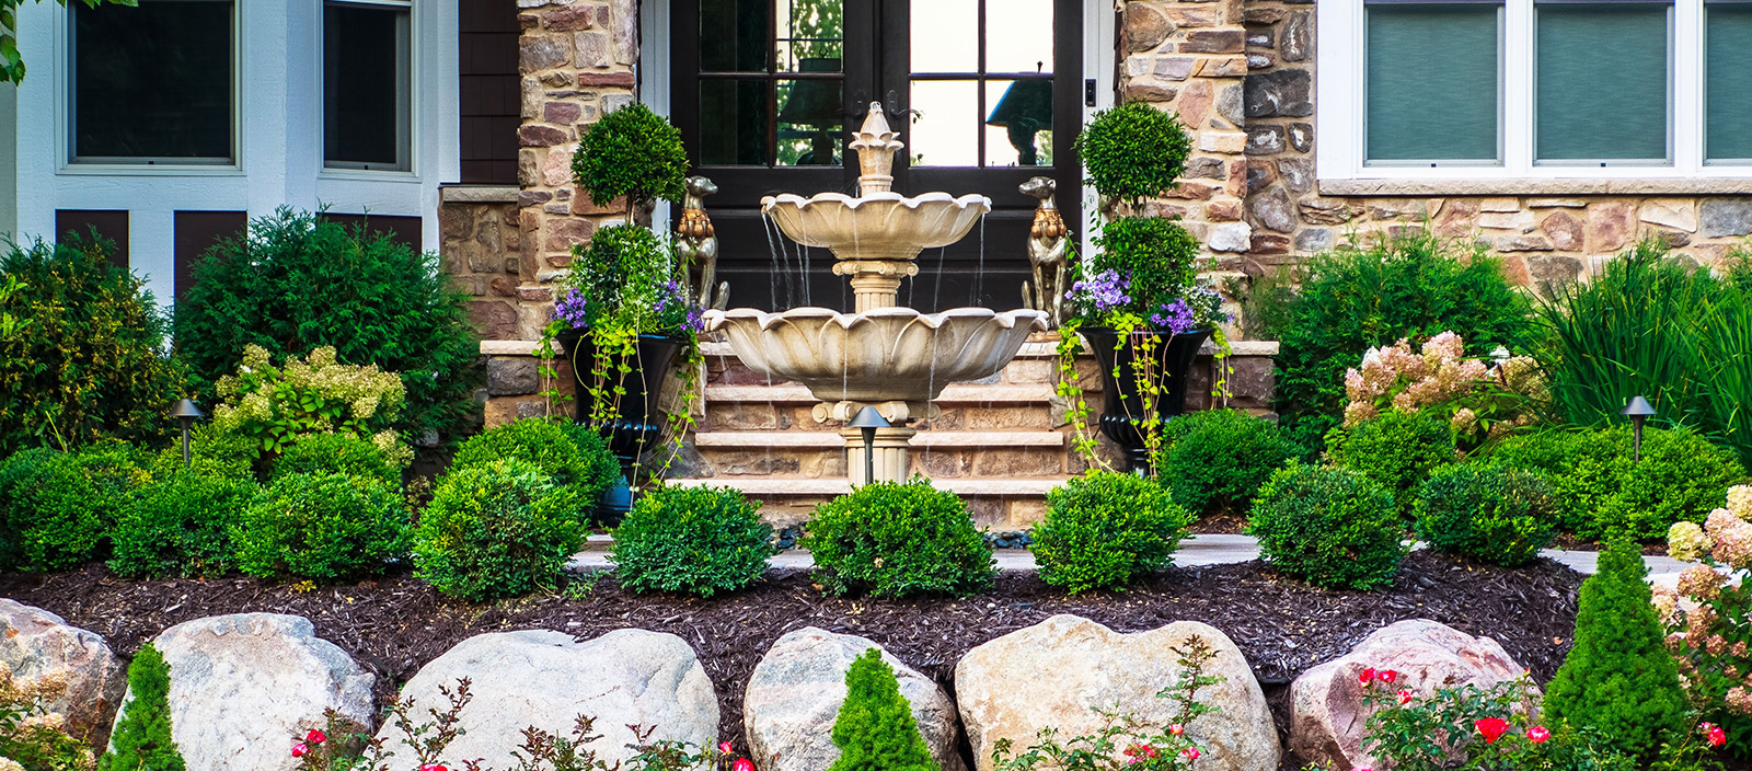
[[[925,193],[871,193],[853,198],[820,193],[809,198],[778,195],[760,200],[760,210],[797,244],[830,249],[839,259],[913,259],[923,249],[962,240],[992,210],[981,195],[955,198]],[[801,308],[799,308],[801,310]]]

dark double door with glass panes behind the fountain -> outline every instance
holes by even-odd
[[[760,196],[857,193],[850,131],[881,102],[906,147],[902,195],[979,193],[993,210],[960,244],[918,256],[901,301],[1014,308],[1037,203],[1053,177],[1077,226],[1083,12],[1077,0],[676,0],[671,105],[718,233],[731,305],[850,310],[825,251],[760,219]],[[809,259],[802,259],[808,256]]]

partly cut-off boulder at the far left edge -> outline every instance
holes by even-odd
[[[67,690],[46,704],[61,713],[74,736],[109,743],[110,720],[128,690],[128,669],[103,638],[67,626],[42,608],[0,599],[0,664],[23,680],[58,676]]]

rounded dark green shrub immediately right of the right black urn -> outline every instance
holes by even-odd
[[[1247,513],[1272,471],[1302,454],[1277,424],[1239,410],[1176,417],[1162,426],[1162,442],[1156,477],[1195,517]]]

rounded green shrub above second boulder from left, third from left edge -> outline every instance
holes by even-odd
[[[231,531],[237,566],[270,580],[380,575],[408,554],[408,510],[382,480],[293,473],[265,487]]]

